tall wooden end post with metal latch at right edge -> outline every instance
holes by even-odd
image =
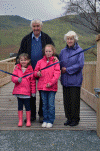
[[[97,65],[96,65],[96,88],[100,88],[100,34],[96,37],[97,41]],[[100,137],[100,92],[97,98],[97,135]]]

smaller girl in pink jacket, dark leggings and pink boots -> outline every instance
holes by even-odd
[[[12,82],[15,83],[13,94],[17,96],[18,100],[18,126],[23,125],[23,105],[26,109],[26,126],[31,126],[30,116],[30,97],[36,94],[36,80],[33,74],[28,75],[24,78],[23,76],[33,73],[33,68],[30,65],[30,59],[28,54],[22,53],[19,56],[19,64],[15,67],[13,74],[18,77],[12,76]]]

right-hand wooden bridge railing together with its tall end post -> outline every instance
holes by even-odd
[[[97,35],[96,41],[97,62],[84,65],[81,99],[97,112],[97,135],[100,137],[100,34]],[[98,97],[95,96],[94,88],[98,89]]]

